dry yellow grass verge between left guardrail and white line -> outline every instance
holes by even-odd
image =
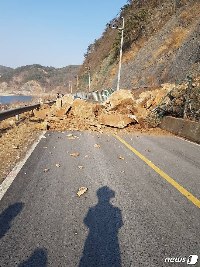
[[[32,118],[31,111],[20,114],[14,127],[9,124],[11,120],[15,117],[0,122],[0,183],[39,134],[34,128],[35,118]],[[13,143],[19,149],[12,148]]]

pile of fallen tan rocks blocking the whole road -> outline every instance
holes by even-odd
[[[139,99],[129,90],[114,91],[102,104],[90,104],[81,99],[74,99],[67,94],[56,100],[54,105],[41,104],[34,110],[34,116],[44,121],[38,123],[37,129],[68,129],[71,131],[92,130],[103,132],[106,126],[115,128],[140,128],[161,99],[174,87],[163,84],[162,88],[143,92]]]

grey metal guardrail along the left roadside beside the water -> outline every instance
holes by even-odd
[[[51,105],[54,103],[56,103],[56,101],[44,102],[43,104]],[[16,107],[16,108],[11,108],[8,110],[1,111],[0,112],[0,121],[3,121],[5,119],[11,118],[15,115],[18,115],[18,114],[21,114],[21,113],[24,113],[24,112],[27,112],[27,111],[30,111],[33,109],[36,109],[36,108],[40,107],[40,104],[41,103],[35,104],[35,105],[23,106],[23,107]]]

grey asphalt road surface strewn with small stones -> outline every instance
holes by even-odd
[[[200,257],[194,203],[113,134],[69,133],[46,133],[0,201],[0,266],[188,266],[164,261]],[[171,135],[121,138],[200,199],[200,146]],[[88,191],[78,196],[81,186]]]

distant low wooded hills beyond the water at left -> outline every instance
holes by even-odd
[[[73,79],[79,71],[79,65],[69,65],[58,69],[39,64],[16,69],[4,68],[0,67],[0,70],[4,70],[0,77],[0,90],[26,94],[66,93],[69,90],[68,81]]]

